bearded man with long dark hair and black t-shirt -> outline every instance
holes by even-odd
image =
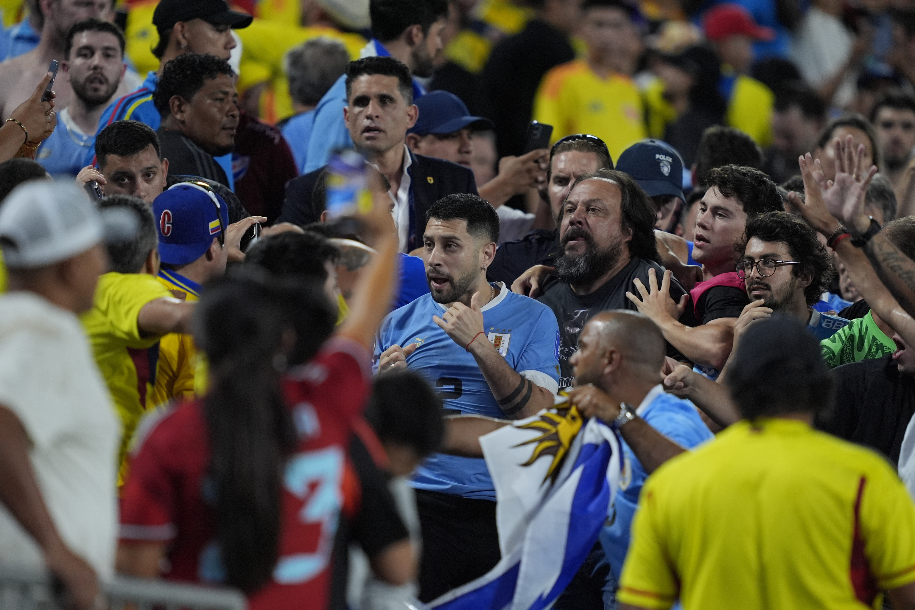
[[[572,387],[575,376],[569,359],[578,348],[585,323],[601,311],[635,310],[635,304],[626,298],[635,288],[633,281],[638,278],[645,286],[652,282],[656,286],[664,267],[658,263],[654,240],[654,202],[628,174],[598,169],[580,176],[559,216],[556,277],[546,284],[539,300],[553,310],[559,322],[559,387]],[[686,289],[671,278],[673,302],[680,303],[684,294]],[[689,326],[694,325],[691,313],[687,308],[681,319]],[[670,343],[667,353],[682,359]]]

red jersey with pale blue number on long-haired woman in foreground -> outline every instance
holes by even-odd
[[[347,449],[370,382],[370,355],[343,338],[332,338],[285,376],[299,442],[285,467],[274,577],[249,597],[252,610],[327,607],[339,517],[355,514],[359,504]],[[122,490],[121,540],[165,543],[169,580],[224,582],[202,402],[147,419],[134,453]]]

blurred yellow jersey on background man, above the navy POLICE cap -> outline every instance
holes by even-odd
[[[579,133],[599,137],[614,162],[623,150],[647,136],[635,83],[619,74],[602,79],[585,60],[572,60],[546,72],[534,98],[533,118],[553,125],[553,142]]]

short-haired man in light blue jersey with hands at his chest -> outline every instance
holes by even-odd
[[[425,219],[430,294],[384,319],[378,373],[418,372],[452,414],[521,419],[551,407],[559,376],[553,312],[486,280],[499,215],[477,195],[456,193],[433,203]],[[419,599],[430,602],[499,561],[496,493],[484,460],[443,453],[428,457],[410,485],[423,531]]]

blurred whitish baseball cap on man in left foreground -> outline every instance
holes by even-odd
[[[6,267],[45,267],[107,241],[136,234],[133,212],[100,212],[72,182],[32,180],[16,187],[0,207],[0,247]]]

